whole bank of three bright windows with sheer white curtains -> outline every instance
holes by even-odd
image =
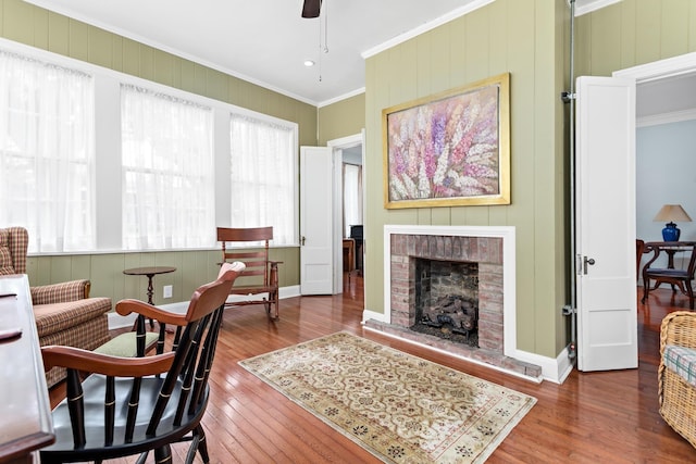
[[[296,123],[0,38],[0,225],[33,254],[216,249],[216,226],[297,246],[297,140]]]

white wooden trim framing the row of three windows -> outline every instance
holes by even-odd
[[[175,98],[208,105],[213,109],[213,153],[214,153],[214,198],[215,222],[224,225],[231,221],[229,211],[232,198],[229,195],[229,114],[239,114],[268,121],[273,124],[288,127],[293,131],[293,177],[297,179],[294,186],[294,220],[295,242],[281,247],[299,246],[299,125],[298,123],[282,120],[269,114],[260,113],[232,103],[226,103],[198,93],[182,90],[164,84],[148,80],[141,77],[110,70],[74,58],[38,49],[24,43],[18,43],[0,37],[0,48],[24,54],[26,57],[52,63],[55,65],[74,68],[94,76],[95,81],[95,204],[97,248],[80,252],[36,252],[32,255],[78,255],[78,254],[107,254],[107,253],[138,253],[158,251],[196,251],[214,250],[210,248],[186,248],[165,250],[124,250],[121,243],[122,218],[121,214],[113,211],[122,210],[121,176],[113,173],[121,172],[121,84],[144,87],[156,92],[171,95]]]

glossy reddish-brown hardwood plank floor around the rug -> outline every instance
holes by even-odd
[[[696,462],[696,450],[664,424],[657,403],[660,321],[671,311],[687,308],[686,299],[674,298],[671,290],[650,292],[648,304],[638,302],[638,368],[588,374],[573,371],[560,386],[549,381],[536,385],[363,330],[360,278],[352,278],[344,294],[282,300],[276,323],[266,319],[261,306],[228,310],[211,373],[212,398],[203,418],[211,462],[380,462],[237,365],[246,358],[339,330],[536,397],[537,404],[488,463]],[[61,387],[54,388],[52,403],[63,394]],[[175,462],[183,462],[184,447],[173,451]]]

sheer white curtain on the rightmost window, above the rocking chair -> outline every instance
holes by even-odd
[[[231,227],[273,226],[274,244],[297,243],[293,129],[231,115]]]

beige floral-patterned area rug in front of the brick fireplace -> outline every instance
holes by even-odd
[[[536,399],[348,333],[240,361],[389,463],[481,463]]]

